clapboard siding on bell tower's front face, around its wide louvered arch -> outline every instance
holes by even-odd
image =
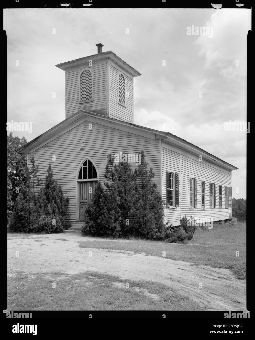
[[[79,75],[88,68],[93,74],[93,102],[79,103]],[[66,118],[84,109],[107,116],[107,63],[106,60],[89,62],[66,70]]]

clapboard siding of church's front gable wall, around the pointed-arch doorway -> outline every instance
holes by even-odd
[[[74,222],[77,218],[76,176],[79,165],[86,157],[90,157],[94,162],[98,169],[99,180],[103,183],[108,153],[113,155],[122,151],[139,153],[143,150],[148,167],[154,169],[154,181],[159,190],[159,140],[137,136],[96,123],[93,123],[92,130],[89,130],[89,124],[87,120],[29,154],[29,157],[35,156],[35,162],[39,165],[38,175],[43,181],[48,166],[51,164],[54,179],[61,185],[64,194],[70,198],[70,222]],[[86,143],[86,145],[83,144],[85,150],[80,150],[82,142]],[[52,161],[53,156],[56,157],[55,162]]]

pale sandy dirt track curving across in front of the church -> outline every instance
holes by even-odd
[[[10,235],[7,238],[7,274],[98,271],[120,276],[127,282],[128,279],[143,279],[163,283],[205,304],[208,310],[247,312],[246,281],[235,278],[228,269],[191,266],[184,261],[128,251],[80,248],[78,242],[85,240],[95,238],[79,234]],[[91,251],[92,256],[89,256]]]

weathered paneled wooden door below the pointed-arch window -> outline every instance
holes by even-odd
[[[97,183],[97,181],[78,182],[79,221],[84,221],[85,209],[88,202],[92,200]]]

